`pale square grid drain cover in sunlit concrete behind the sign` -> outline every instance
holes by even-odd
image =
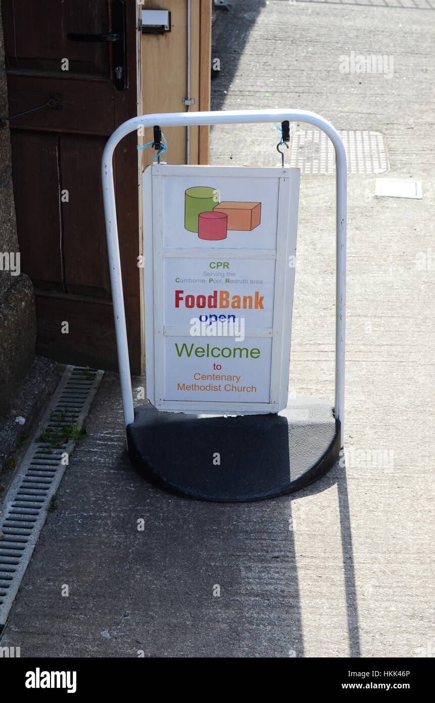
[[[350,174],[382,174],[389,171],[387,141],[377,131],[339,129]],[[290,133],[290,166],[302,174],[335,174],[335,151],[326,134],[318,129]]]

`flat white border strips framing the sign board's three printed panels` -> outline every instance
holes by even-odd
[[[267,249],[240,247],[168,247],[164,244],[164,179],[184,176],[193,184],[204,179],[273,179],[278,181],[278,219],[275,247]],[[150,182],[151,181],[151,182]],[[183,186],[184,187],[184,186]],[[183,413],[277,413],[287,407],[294,266],[289,257],[296,255],[299,169],[235,166],[172,166],[153,164],[143,173],[143,233],[145,252],[145,349],[147,398],[161,411]],[[273,315],[268,328],[245,329],[245,336],[271,340],[268,401],[169,400],[164,388],[164,340],[188,337],[189,326],[162,324],[164,320],[164,261],[175,259],[209,259],[222,257],[245,261],[273,261]],[[197,313],[193,313],[195,315]],[[265,373],[265,371],[263,372]]]

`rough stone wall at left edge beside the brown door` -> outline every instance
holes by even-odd
[[[8,113],[0,7],[0,117]],[[13,201],[11,136],[0,122],[0,417],[34,358],[37,325],[30,279],[20,273]]]

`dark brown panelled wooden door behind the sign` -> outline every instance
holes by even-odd
[[[115,86],[114,42],[71,41],[67,34],[115,31],[115,2],[2,0],[9,114],[58,101],[10,122],[21,268],[35,287],[37,353],[105,369],[116,369],[117,361],[100,160],[112,131],[138,114],[136,0],[125,0],[124,90]],[[131,369],[139,373],[136,143],[132,134],[117,148],[115,185]]]

